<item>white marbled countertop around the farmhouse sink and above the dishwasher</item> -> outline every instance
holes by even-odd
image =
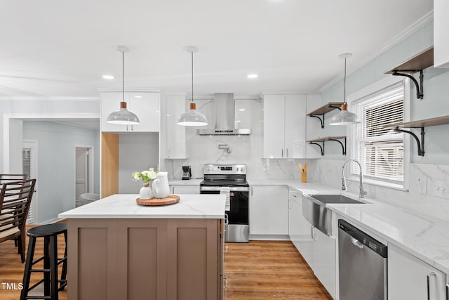
[[[248,180],[249,181],[249,180]],[[250,185],[287,185],[303,195],[342,194],[356,200],[358,195],[343,192],[321,183],[300,180],[249,181]],[[361,230],[370,231],[438,270],[449,274],[449,222],[396,207],[378,200],[363,198],[368,204],[326,204]],[[369,233],[368,233],[369,234]]]

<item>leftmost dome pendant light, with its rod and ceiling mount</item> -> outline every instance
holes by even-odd
[[[109,116],[107,116],[106,122],[110,124],[118,124],[118,125],[138,125],[140,124],[139,118],[137,115],[130,112],[126,109],[125,102],[125,52],[128,52],[128,47],[119,45],[117,46],[117,51],[121,52],[121,103],[120,110],[116,110],[115,112],[111,112]]]

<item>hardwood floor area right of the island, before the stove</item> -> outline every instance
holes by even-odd
[[[228,243],[227,300],[332,299],[288,241]]]

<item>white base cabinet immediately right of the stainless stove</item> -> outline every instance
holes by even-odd
[[[250,235],[288,235],[288,190],[284,185],[250,187]]]

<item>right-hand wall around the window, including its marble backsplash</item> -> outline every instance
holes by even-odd
[[[433,23],[430,23],[415,32],[407,39],[404,39],[396,46],[392,47],[381,56],[363,66],[347,77],[347,95],[355,93],[366,86],[370,86],[385,77],[391,75],[384,74],[386,70],[407,60],[416,53],[421,52],[433,44]],[[375,49],[373,49],[375,50]],[[337,59],[335,53],[335,58]],[[351,67],[350,61],[348,67]],[[415,75],[418,77],[419,75]],[[419,81],[419,79],[418,79]],[[427,119],[449,115],[449,69],[437,69],[429,67],[424,70],[424,99],[416,99],[415,86],[413,86],[412,100],[410,103],[410,120]],[[319,98],[316,98],[319,100]],[[311,103],[317,107],[330,101],[343,101],[343,82],[338,81],[329,89],[323,91],[321,103]],[[309,104],[309,103],[308,103]],[[337,111],[326,114],[329,121]],[[345,135],[345,126],[328,126],[319,129],[319,121],[309,118],[308,128],[315,125],[316,130],[308,132],[307,138],[314,136]],[[418,131],[416,131],[418,132]],[[393,190],[391,188],[380,188],[374,185],[367,185],[368,196],[376,200],[389,202],[401,207],[413,209],[420,214],[429,214],[439,219],[449,220],[449,200],[434,197],[435,180],[449,179],[449,125],[429,127],[425,129],[425,156],[417,155],[417,146],[410,138],[410,148],[405,151],[410,152],[410,191]],[[341,168],[346,156],[342,155],[340,145],[335,143],[326,144],[326,155],[317,164],[315,177],[316,181],[333,185],[340,188]],[[427,181],[427,195],[417,193],[417,178]],[[349,190],[358,193],[358,182],[349,183]]]

